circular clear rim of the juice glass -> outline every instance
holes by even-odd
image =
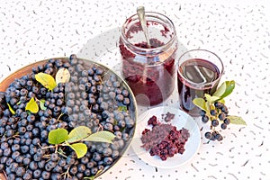
[[[205,51],[205,52],[211,53],[212,55],[214,55],[214,56],[219,60],[219,62],[220,62],[220,67],[218,67],[218,66],[216,65],[216,66],[219,68],[219,70],[220,70],[220,73],[219,73],[218,78],[216,78],[215,80],[213,80],[213,81],[211,81],[211,82],[209,82],[209,83],[194,83],[193,81],[191,81],[191,80],[185,78],[185,77],[182,75],[182,73],[179,72],[179,67],[180,67],[179,61],[181,60],[181,58],[184,57],[184,55],[186,55],[186,54],[188,54],[188,53],[190,53],[190,52],[193,52],[193,51]],[[203,59],[204,59],[204,58],[203,58]],[[209,61],[208,59],[204,59],[204,60]],[[180,56],[180,58],[178,58],[177,67],[178,67],[178,68],[177,68],[177,74],[178,74],[182,79],[184,79],[184,81],[185,81],[186,83],[188,83],[188,85],[191,85],[191,86],[193,86],[193,87],[195,87],[195,88],[202,88],[202,89],[205,89],[205,88],[212,87],[212,86],[216,85],[216,84],[220,81],[220,78],[221,78],[221,76],[222,76],[223,73],[224,73],[224,65],[223,65],[222,60],[220,59],[220,57],[219,57],[216,53],[214,53],[214,52],[212,52],[212,51],[210,51],[210,50],[208,50],[208,49],[191,49],[191,50],[185,51],[185,52]]]

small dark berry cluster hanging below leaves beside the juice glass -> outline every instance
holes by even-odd
[[[208,121],[211,121],[211,132],[208,131],[204,134],[206,139],[211,140],[222,140],[223,137],[220,135],[220,132],[215,130],[220,125],[220,128],[222,130],[227,129],[227,126],[229,125],[229,118],[228,116],[228,108],[224,103],[216,102],[214,103],[213,109],[211,109],[210,114],[206,113],[202,110],[201,116],[202,116],[202,122],[206,123]]]

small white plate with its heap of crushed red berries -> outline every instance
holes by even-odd
[[[201,145],[197,123],[180,109],[160,106],[139,115],[131,147],[150,166],[175,168],[193,158]]]

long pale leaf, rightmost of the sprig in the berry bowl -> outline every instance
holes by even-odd
[[[95,142],[108,142],[112,143],[112,139],[115,138],[115,135],[107,130],[97,131],[83,139],[85,141],[95,141]]]

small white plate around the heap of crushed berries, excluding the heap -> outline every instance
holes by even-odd
[[[169,122],[164,121],[163,119],[166,112],[175,114],[175,118]],[[167,157],[167,159],[163,161],[160,157],[150,156],[150,153],[148,151],[146,151],[144,148],[141,148],[141,132],[146,128],[151,130],[151,126],[148,125],[148,120],[153,115],[155,115],[157,117],[157,121],[160,121],[161,123],[171,123],[173,126],[176,127],[176,130],[181,130],[182,128],[185,128],[189,131],[190,137],[185,142],[185,150],[182,155],[178,153],[175,154],[174,157]],[[200,145],[201,133],[198,125],[193,120],[193,118],[186,112],[181,111],[180,109],[168,106],[153,108],[148,110],[147,112],[142,113],[137,121],[136,131],[131,142],[131,148],[133,148],[134,152],[138,155],[139,158],[141,158],[141,160],[148,163],[148,165],[161,168],[174,168],[176,166],[184,165],[190,159],[192,159],[192,157],[199,150]]]

